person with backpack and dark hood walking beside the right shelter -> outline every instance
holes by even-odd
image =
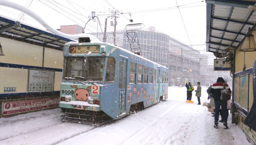
[[[229,88],[229,85],[227,85],[222,77],[219,77],[217,79],[217,83],[214,83],[211,88],[211,94],[212,97],[214,98],[214,103],[215,103],[215,115],[214,115],[214,128],[218,128],[218,123],[219,123],[219,111],[220,107],[222,108],[222,117],[223,117],[223,125],[224,129],[229,128],[227,126],[227,101],[222,101],[220,99],[221,97],[221,90],[224,89],[224,85],[226,89],[230,92],[231,90]]]

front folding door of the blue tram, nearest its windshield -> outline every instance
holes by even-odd
[[[126,66],[127,60],[121,58],[119,64],[119,112],[117,115],[121,115],[125,112],[125,96],[126,96]]]

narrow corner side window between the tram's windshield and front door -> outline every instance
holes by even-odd
[[[114,76],[115,76],[115,59],[108,57],[105,83],[114,82]]]

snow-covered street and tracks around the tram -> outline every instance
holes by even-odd
[[[195,89],[197,86],[195,86]],[[61,122],[61,109],[0,118],[0,145],[251,145],[238,125],[213,128],[202,86],[201,105],[186,102],[186,88],[169,87],[168,100],[101,127]]]

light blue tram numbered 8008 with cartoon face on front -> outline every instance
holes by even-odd
[[[107,43],[64,45],[62,121],[101,124],[168,98],[168,68]]]

